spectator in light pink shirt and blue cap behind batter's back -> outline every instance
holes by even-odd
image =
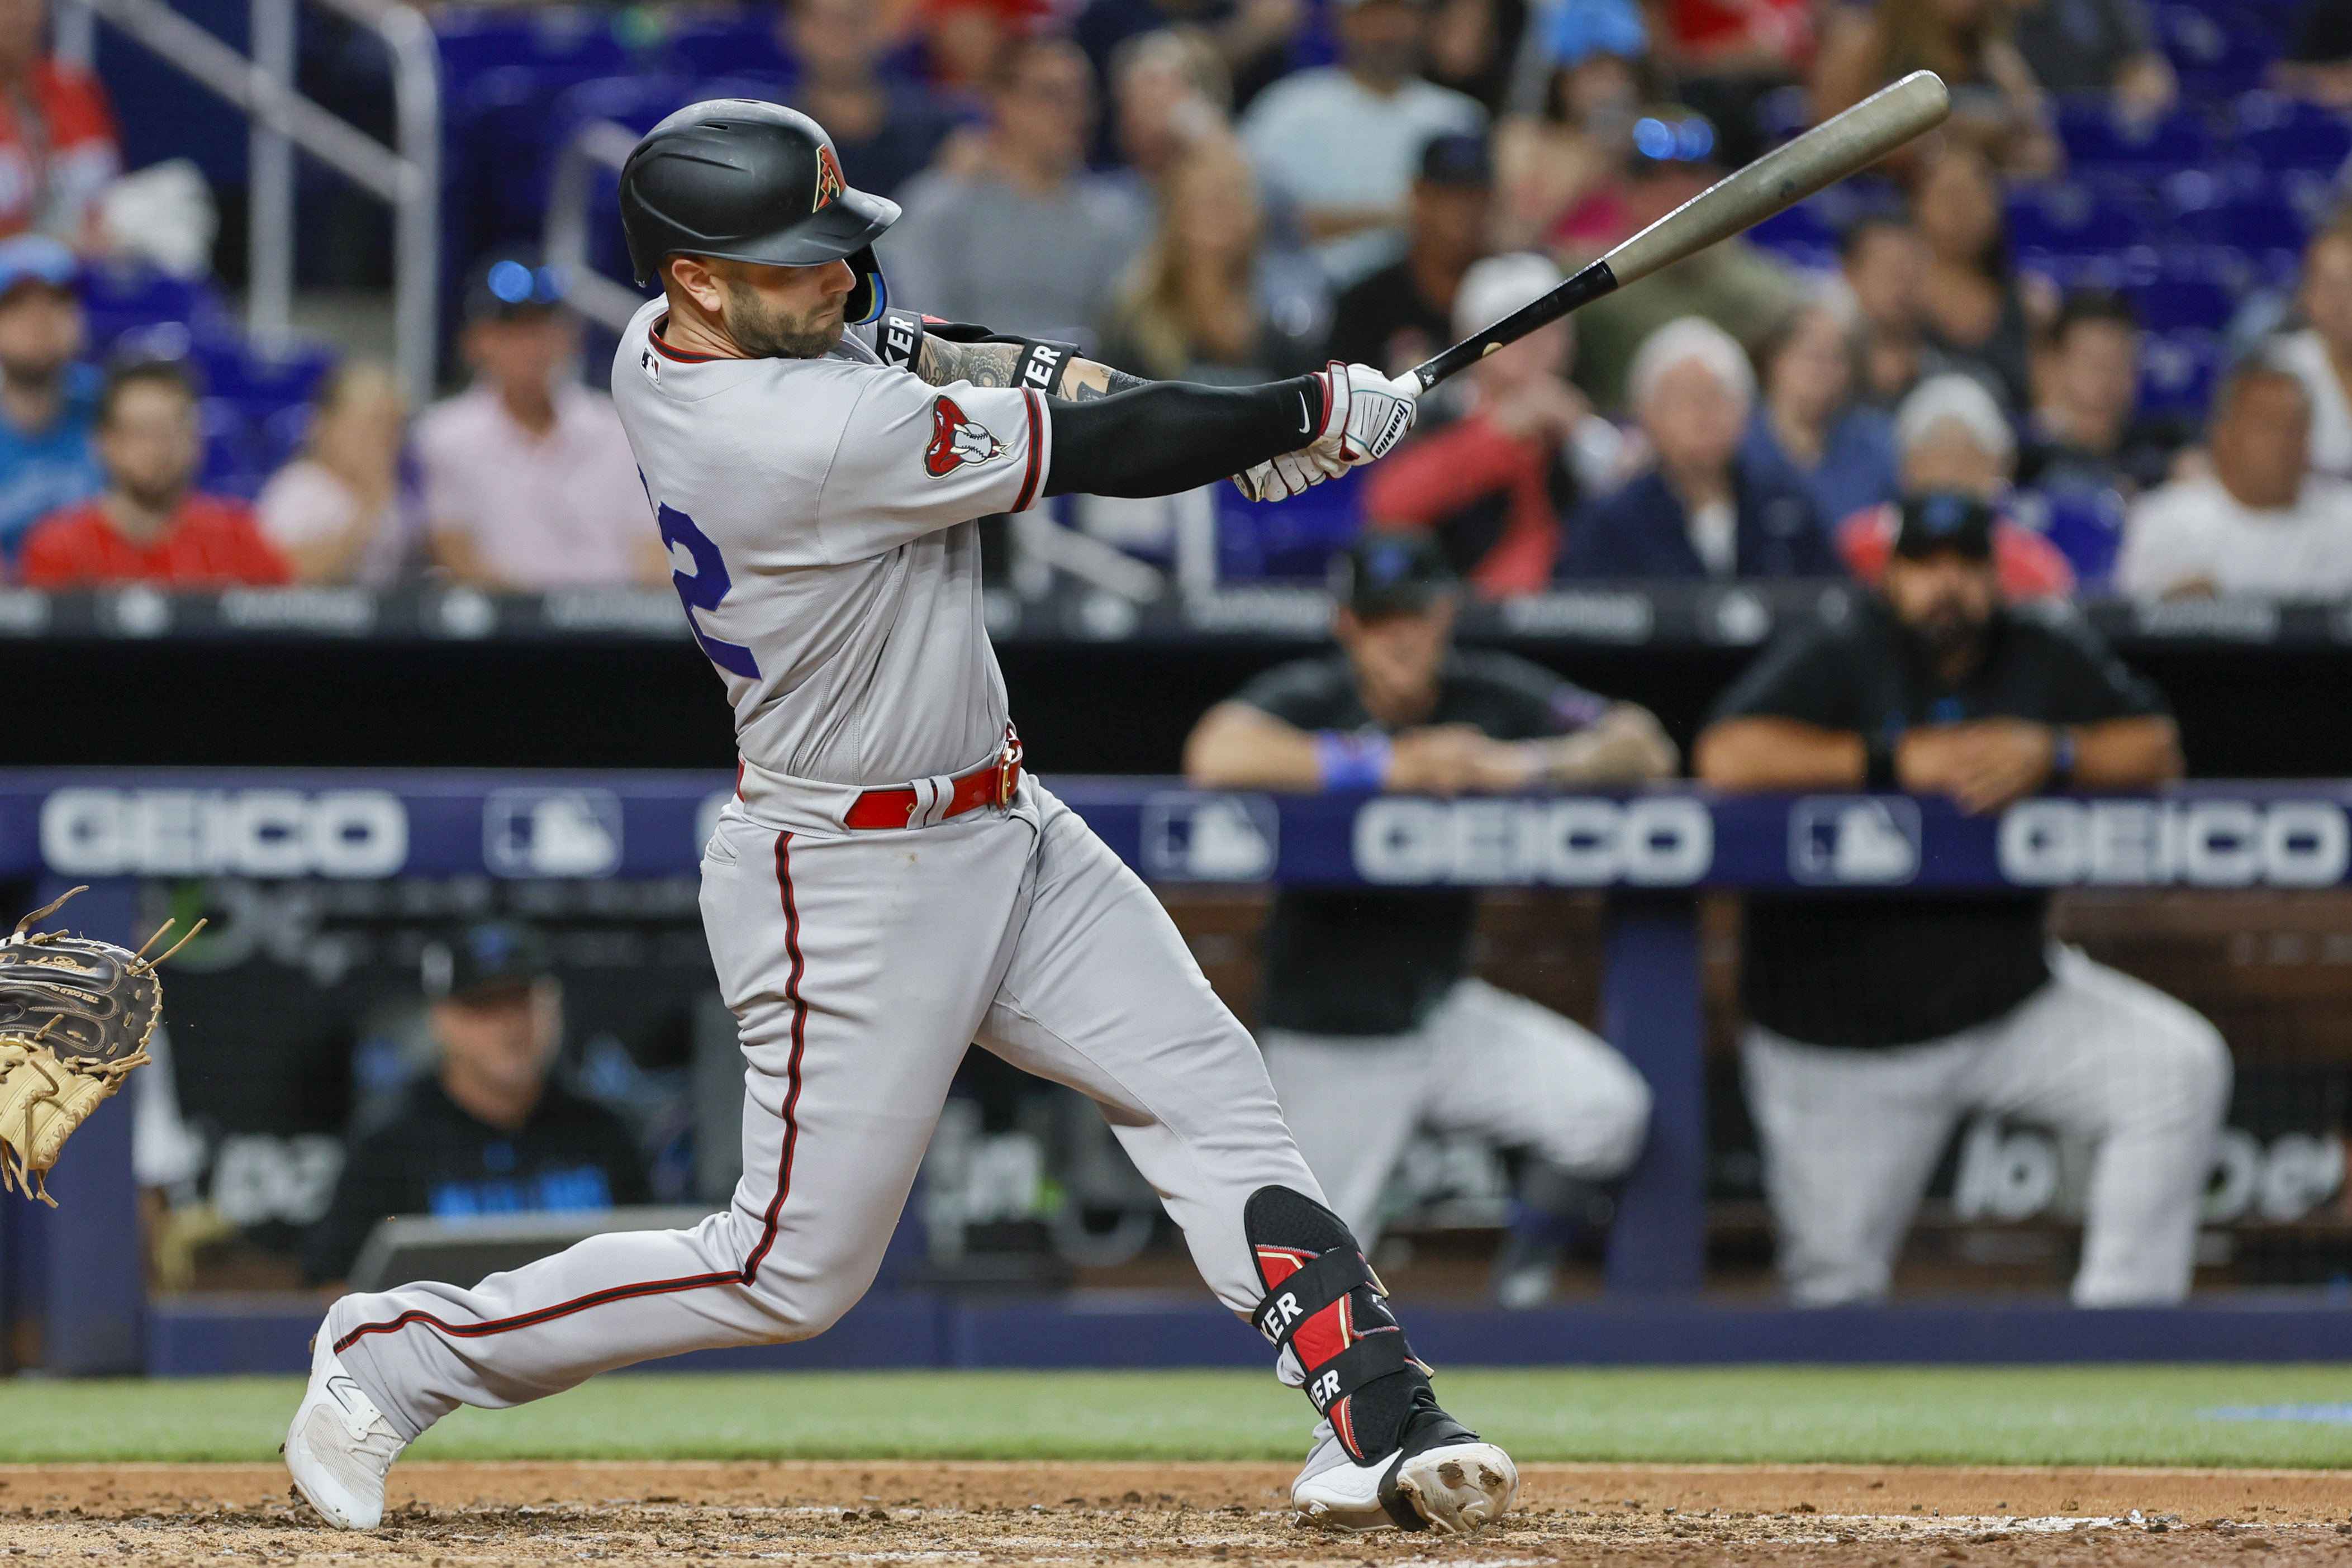
[[[522,254],[487,259],[466,284],[473,386],[416,421],[433,559],[461,583],[668,581],[621,418],[579,383],[569,284]]]

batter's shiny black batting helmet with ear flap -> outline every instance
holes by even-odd
[[[757,99],[689,103],[644,134],[621,165],[621,228],[637,282],[670,256],[821,266],[858,275],[847,315],[887,303],[873,242],[898,205],[851,190],[816,120]]]

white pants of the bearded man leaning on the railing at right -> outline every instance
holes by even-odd
[[[1959,1034],[1849,1051],[1750,1025],[1740,1056],[1797,1305],[1886,1295],[1952,1124],[1973,1110],[2098,1143],[2077,1307],[2187,1295],[2230,1048],[2154,985],[2051,947],[2049,985]]]

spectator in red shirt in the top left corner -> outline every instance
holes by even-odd
[[[122,136],[99,78],[49,59],[47,16],[42,0],[0,0],[0,237],[38,230],[94,252]]]

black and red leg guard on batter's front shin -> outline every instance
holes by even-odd
[[[1308,1399],[1348,1458],[1371,1465],[1397,1455],[1381,1481],[1381,1502],[1397,1528],[1428,1528],[1397,1495],[1397,1467],[1439,1443],[1472,1443],[1477,1434],[1437,1408],[1430,1368],[1414,1359],[1355,1237],[1336,1213],[1289,1187],[1251,1192],[1242,1232],[1265,1286],[1251,1312],[1258,1333],[1298,1359]]]

